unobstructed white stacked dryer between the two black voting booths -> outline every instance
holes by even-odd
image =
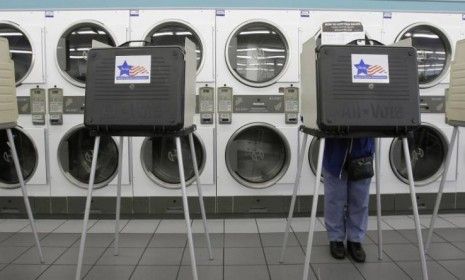
[[[273,211],[297,168],[299,11],[225,10],[216,17],[218,196]],[[223,209],[231,211],[229,209]],[[283,209],[279,209],[283,210]]]

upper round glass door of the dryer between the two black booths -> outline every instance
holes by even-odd
[[[239,81],[260,87],[276,81],[288,55],[288,44],[281,31],[265,22],[252,22],[229,38],[226,60]]]

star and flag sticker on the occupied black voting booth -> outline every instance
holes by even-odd
[[[389,84],[388,56],[352,54],[352,83]]]

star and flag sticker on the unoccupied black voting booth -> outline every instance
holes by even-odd
[[[115,84],[150,84],[150,55],[115,57]]]

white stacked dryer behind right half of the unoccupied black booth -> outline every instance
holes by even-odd
[[[215,122],[214,113],[214,10],[133,10],[130,13],[131,40],[144,40],[152,45],[184,46],[186,38],[196,45],[197,108],[194,145],[203,195],[216,196]],[[187,185],[195,181],[189,140],[181,139]],[[178,196],[179,170],[173,138],[147,137],[133,140],[134,196]],[[189,196],[197,196],[188,188]]]

